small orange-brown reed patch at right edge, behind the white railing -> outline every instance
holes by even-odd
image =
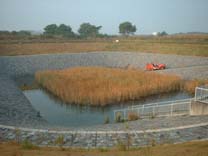
[[[190,80],[186,81],[184,84],[184,90],[190,94],[195,93],[195,88],[197,86],[208,85],[208,79],[206,80]]]

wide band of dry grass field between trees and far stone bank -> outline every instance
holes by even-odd
[[[118,38],[116,38],[118,39]],[[0,56],[91,51],[138,51],[208,56],[208,35],[170,35],[96,40],[0,41]],[[11,44],[12,43],[12,44]]]

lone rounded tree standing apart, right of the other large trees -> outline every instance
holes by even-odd
[[[134,34],[137,28],[130,22],[123,22],[119,25],[119,33],[122,35]]]

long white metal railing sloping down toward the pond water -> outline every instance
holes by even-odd
[[[164,101],[114,110],[114,120],[118,116],[121,120],[128,120],[132,114],[138,118],[188,115],[190,114],[191,100],[193,99]]]

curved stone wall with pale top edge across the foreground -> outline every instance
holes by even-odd
[[[53,131],[17,129],[0,125],[0,140],[25,140],[39,146],[138,147],[153,144],[179,143],[208,138],[208,123],[146,131]],[[61,139],[60,139],[61,138]],[[59,141],[58,141],[59,140]]]

